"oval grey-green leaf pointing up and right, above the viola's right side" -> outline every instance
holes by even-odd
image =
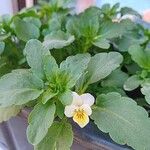
[[[119,67],[123,57],[118,52],[99,53],[91,58],[88,65],[89,83],[97,82],[107,77]]]

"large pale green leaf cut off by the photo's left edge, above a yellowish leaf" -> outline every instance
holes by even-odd
[[[30,70],[15,70],[0,79],[0,104],[7,107],[35,100],[43,92],[43,86],[43,81]]]

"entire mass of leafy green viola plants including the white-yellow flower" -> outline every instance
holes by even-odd
[[[149,150],[150,30],[122,19],[140,15],[119,4],[78,15],[65,4],[2,17],[1,60],[11,65],[1,72],[0,120],[30,108],[36,150],[70,149],[72,124],[89,122],[118,144]]]

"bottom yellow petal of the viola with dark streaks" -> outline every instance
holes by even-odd
[[[81,128],[86,126],[89,122],[89,117],[85,113],[83,109],[78,109],[75,110],[74,115],[73,115],[73,120],[76,122]]]

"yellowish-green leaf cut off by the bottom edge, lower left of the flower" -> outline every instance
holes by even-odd
[[[54,122],[46,137],[35,150],[70,150],[73,143],[72,127],[69,123]]]

